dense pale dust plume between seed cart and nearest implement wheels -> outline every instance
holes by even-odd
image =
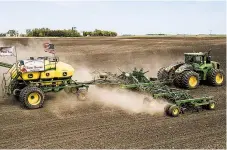
[[[92,97],[93,101],[103,103],[108,107],[120,108],[128,113],[163,114],[164,108],[168,104],[163,100],[155,100],[151,96],[149,97],[151,103],[144,104],[143,100],[148,95],[97,86],[91,86],[88,95]]]

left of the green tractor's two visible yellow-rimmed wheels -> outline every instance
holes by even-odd
[[[199,86],[199,74],[194,71],[185,71],[182,74],[181,87],[195,89]]]

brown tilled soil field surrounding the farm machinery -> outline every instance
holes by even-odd
[[[118,67],[126,71],[144,67],[150,70],[148,76],[156,76],[160,67],[181,61],[184,52],[210,48],[212,59],[226,71],[225,38],[1,39],[0,44],[17,45],[19,57],[24,57],[46,55],[41,44],[49,40],[56,45],[60,59],[75,67],[78,80],[89,78],[87,70],[117,72]],[[217,109],[171,118],[96,101],[78,102],[64,93],[48,94],[44,107],[37,110],[1,99],[0,148],[226,149],[226,86],[201,85],[191,94],[214,96]]]

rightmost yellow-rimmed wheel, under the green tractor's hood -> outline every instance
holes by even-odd
[[[211,69],[207,73],[207,81],[212,86],[221,86],[225,82],[225,74],[221,69]]]

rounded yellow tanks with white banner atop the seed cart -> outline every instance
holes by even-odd
[[[16,68],[19,72],[15,71]],[[21,73],[18,80],[58,80],[70,79],[74,74],[74,69],[71,65],[59,61],[57,57],[38,57],[37,59],[31,57],[19,60],[9,72],[13,79]]]

